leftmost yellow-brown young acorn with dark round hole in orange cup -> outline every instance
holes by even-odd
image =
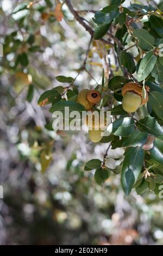
[[[101,94],[97,90],[83,89],[78,94],[78,102],[83,105],[86,110],[91,109],[101,100]]]

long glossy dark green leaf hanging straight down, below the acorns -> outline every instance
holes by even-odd
[[[121,183],[126,196],[129,195],[137,181],[144,160],[144,151],[141,148],[129,148],[126,151],[122,166]]]

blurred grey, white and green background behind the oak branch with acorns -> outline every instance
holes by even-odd
[[[0,244],[162,244],[162,201],[149,192],[136,195],[133,191],[126,198],[120,174],[114,172],[102,186],[97,185],[93,171],[83,170],[84,164],[92,158],[102,160],[108,144],[93,144],[82,131],[54,132],[48,107],[37,105],[41,93],[61,85],[56,76],[77,76],[90,35],[73,19],[66,4],[64,19],[46,21],[42,13],[54,10],[54,0],[38,1],[21,19],[12,14],[17,5],[29,2],[0,1],[4,50],[0,59],[0,185],[4,190]],[[72,2],[77,10],[108,5],[106,0]],[[94,26],[92,13],[84,17]],[[79,89],[101,83],[105,61],[100,58],[100,47],[91,49],[92,62],[101,65],[88,66],[91,76],[80,72],[75,82]],[[114,59],[111,62],[115,65]],[[30,88],[20,75],[22,70],[33,76]],[[107,166],[119,166],[123,153],[120,148],[110,149]]]

